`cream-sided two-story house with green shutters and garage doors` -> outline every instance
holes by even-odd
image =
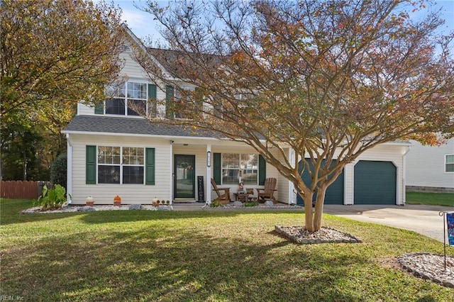
[[[211,201],[216,198],[211,178],[218,187],[230,187],[233,199],[240,177],[248,189],[263,187],[266,178],[274,177],[279,202],[301,203],[293,184],[252,147],[209,133],[151,124],[128,108],[131,102],[142,104],[148,112],[164,117],[168,114],[165,104],[147,108],[146,100],[172,101],[176,92],[172,86],[150,82],[132,60],[128,46],[140,42],[125,29],[129,38],[121,57],[128,82],[104,107],[79,103],[77,116],[62,131],[67,137],[67,191],[73,204],[84,204],[87,196],[97,204],[109,204],[116,195],[126,204],[149,204],[155,197],[172,202]],[[160,66],[165,70],[165,62]],[[406,142],[392,142],[362,154],[328,188],[326,203],[404,204],[408,147]],[[284,150],[294,157],[293,150]]]

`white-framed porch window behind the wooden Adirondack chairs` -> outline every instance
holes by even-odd
[[[258,155],[248,153],[222,154],[222,184],[258,184]]]

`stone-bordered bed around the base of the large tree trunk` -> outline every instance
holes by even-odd
[[[275,231],[290,240],[300,244],[319,243],[360,243],[357,237],[343,233],[333,228],[321,227],[320,230],[311,233],[304,226],[285,227],[275,225]]]

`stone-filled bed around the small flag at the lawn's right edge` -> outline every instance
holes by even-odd
[[[404,254],[397,258],[397,262],[406,272],[418,278],[454,288],[454,256],[446,256],[446,270],[444,270],[444,255],[429,252]]]

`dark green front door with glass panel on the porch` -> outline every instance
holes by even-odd
[[[195,155],[174,155],[175,199],[195,199]]]

